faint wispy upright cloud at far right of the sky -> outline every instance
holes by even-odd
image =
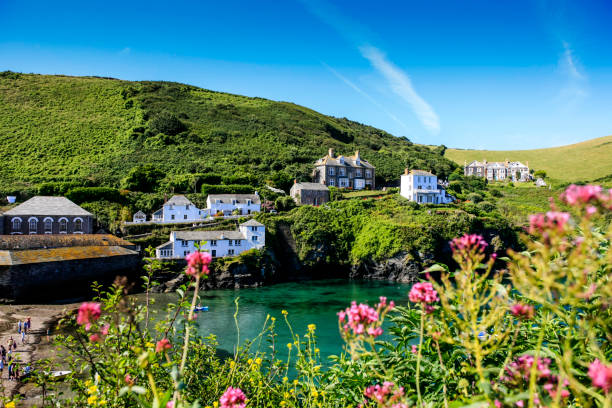
[[[567,42],[563,42],[563,53],[559,57],[559,70],[565,76],[565,84],[559,92],[559,97],[570,109],[579,105],[587,96],[588,77],[574,51]]]

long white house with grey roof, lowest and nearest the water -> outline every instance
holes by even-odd
[[[172,231],[170,241],[158,246],[155,255],[160,259],[184,258],[195,252],[210,252],[213,258],[235,256],[266,245],[266,227],[250,220],[240,224],[238,231]]]

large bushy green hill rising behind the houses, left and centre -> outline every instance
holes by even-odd
[[[404,167],[442,177],[455,168],[442,150],[292,103],[171,82],[0,73],[0,193],[45,182],[122,187],[143,166],[162,175],[150,186],[158,192],[194,173],[287,188],[309,179],[330,147],[359,149],[379,185]]]

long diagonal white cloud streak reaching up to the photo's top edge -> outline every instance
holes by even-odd
[[[367,58],[372,66],[383,75],[391,90],[408,102],[425,129],[432,134],[440,132],[440,119],[438,115],[415,91],[410,77],[399,67],[391,63],[378,48],[366,45],[370,44],[371,39],[374,37],[374,34],[367,27],[346,17],[334,5],[325,0],[301,0],[301,2],[312,14],[336,30],[349,43],[359,49],[361,55]],[[344,79],[340,79],[344,81]],[[344,82],[347,83],[346,81]],[[349,86],[355,89],[352,85]],[[363,91],[360,93],[362,95],[365,94]]]

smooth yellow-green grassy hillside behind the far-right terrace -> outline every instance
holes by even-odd
[[[612,175],[612,136],[600,137],[549,149],[534,150],[463,150],[447,149],[445,156],[463,166],[472,160],[529,162],[529,167],[544,170],[553,179],[575,182],[591,181]]]

